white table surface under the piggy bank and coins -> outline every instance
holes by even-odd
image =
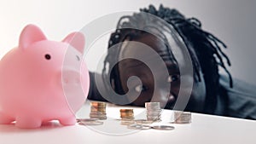
[[[77,113],[78,118],[88,118],[90,101]],[[108,119],[97,126],[61,126],[57,121],[44,124],[36,130],[23,130],[14,124],[0,125],[0,144],[222,144],[256,143],[256,121],[225,118],[192,113],[191,124],[171,124],[172,111],[162,112],[161,124],[175,127],[175,130],[129,130],[119,124],[119,109],[108,104]],[[131,107],[130,107],[131,108]],[[143,118],[145,109],[132,107],[136,118]]]

